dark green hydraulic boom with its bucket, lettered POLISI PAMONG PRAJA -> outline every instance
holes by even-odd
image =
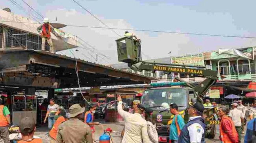
[[[116,42],[119,62],[128,63],[128,67],[131,69],[140,72],[142,70],[152,72],[163,71],[167,74],[175,72],[206,78],[198,85],[192,85],[178,77],[175,77],[176,80],[185,82],[187,86],[193,88],[200,101],[202,101],[202,97],[218,79],[217,71],[208,70],[202,66],[143,62],[141,61],[141,40],[137,40],[133,37],[123,37],[116,40]]]

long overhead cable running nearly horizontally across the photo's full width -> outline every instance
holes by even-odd
[[[4,20],[0,20],[0,22],[13,22],[13,21],[4,21]],[[13,23],[38,24],[38,23],[32,23],[32,22],[13,22]],[[84,27],[84,28],[109,29],[109,28],[106,28],[106,27],[82,26],[82,25],[67,25],[67,26],[70,26],[70,27]],[[143,29],[128,29],[128,28],[111,28],[111,29],[117,29],[117,30],[131,30],[131,31],[143,31],[143,32],[154,32],[154,33],[173,33],[173,34],[189,34],[189,35],[201,35],[201,36],[218,36],[218,37],[253,38],[253,39],[256,39],[256,37],[250,37],[250,36],[232,36],[232,35],[220,35],[220,34],[183,33],[183,32],[171,32],[171,31],[157,31],[157,30],[143,30]]]

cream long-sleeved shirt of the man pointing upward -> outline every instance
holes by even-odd
[[[125,130],[122,143],[150,143],[147,130],[147,121],[140,114],[131,114],[122,109],[122,101],[118,102],[118,113],[124,118]]]

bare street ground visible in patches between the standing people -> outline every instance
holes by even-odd
[[[96,126],[96,132],[95,132],[95,139],[96,143],[99,143],[99,138],[103,134],[104,129],[106,128],[111,128],[113,132],[111,133],[111,137],[113,139],[113,143],[121,143],[121,131],[124,128],[124,123],[103,123],[101,121],[101,125]],[[245,129],[246,131],[246,129]],[[43,143],[49,143],[49,138],[48,138],[48,132],[49,130],[47,129],[46,126],[44,127],[38,127],[37,131],[35,132],[35,136],[39,136],[40,138],[43,139]],[[242,139],[241,143],[244,143],[244,137],[245,134],[242,134]],[[214,139],[206,139],[206,143],[216,143],[220,142],[219,140],[219,125],[216,127],[216,135]]]

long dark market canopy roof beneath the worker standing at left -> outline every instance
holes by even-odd
[[[74,58],[24,49],[0,50],[0,85],[41,88],[78,87]],[[104,65],[77,60],[80,87],[129,85],[156,80]]]

